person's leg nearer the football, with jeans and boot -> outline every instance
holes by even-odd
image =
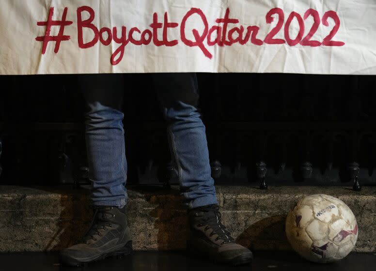
[[[184,205],[188,208],[188,248],[219,262],[250,263],[251,251],[237,244],[221,222],[205,126],[197,109],[196,75],[156,74],[153,77],[168,121],[172,158]]]

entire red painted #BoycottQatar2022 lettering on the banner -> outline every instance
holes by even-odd
[[[64,27],[72,25],[72,21],[66,21],[67,9],[64,9],[63,17],[61,21],[55,21],[52,19],[54,8],[51,7],[48,14],[48,20],[45,22],[38,22],[38,26],[46,26],[46,31],[44,36],[37,37],[35,40],[43,42],[42,54],[46,53],[46,48],[48,42],[56,42],[55,53],[58,53],[61,42],[70,39],[70,36],[64,35]],[[82,14],[88,13],[89,18],[86,20],[82,19]],[[203,30],[199,32],[197,29],[188,29],[187,21],[193,15],[198,15],[200,17],[200,24],[203,25]],[[308,34],[304,36],[305,31],[305,20],[312,16],[313,25]],[[303,45],[303,46],[343,46],[344,42],[333,41],[335,34],[338,32],[341,21],[335,11],[327,11],[323,17],[320,19],[319,13],[314,9],[309,9],[305,12],[302,17],[296,12],[292,12],[284,23],[284,12],[281,8],[272,8],[266,14],[266,23],[271,24],[275,18],[278,17],[277,25],[270,30],[266,35],[264,40],[258,37],[260,28],[258,26],[234,26],[238,24],[239,20],[235,18],[230,18],[230,9],[227,8],[223,18],[217,18],[215,22],[217,25],[209,27],[209,23],[204,12],[199,8],[191,8],[187,14],[183,17],[180,22],[180,41],[178,40],[168,40],[168,32],[170,29],[178,28],[179,23],[169,22],[168,13],[164,14],[163,22],[158,19],[157,13],[153,14],[153,22],[149,25],[149,28],[145,30],[140,30],[137,27],[128,28],[122,26],[121,29],[113,27],[112,29],[108,27],[103,27],[98,29],[97,26],[93,24],[95,19],[95,11],[89,6],[81,6],[77,9],[77,30],[78,30],[78,47],[81,49],[86,49],[93,47],[98,42],[102,45],[110,45],[112,42],[119,44],[119,47],[112,53],[111,64],[117,65],[124,57],[125,47],[128,44],[133,44],[137,46],[149,45],[153,43],[155,46],[176,46],[179,42],[189,47],[199,47],[203,52],[204,56],[212,59],[213,55],[209,52],[208,47],[218,45],[218,46],[231,46],[234,44],[245,45],[251,43],[256,46],[261,46],[263,44],[271,45],[281,45],[287,44],[289,46]],[[290,26],[293,19],[296,19],[299,25],[299,31],[295,38],[290,37]],[[324,26],[329,27],[328,19],[331,18],[335,25],[330,31],[329,35],[323,39],[323,41],[312,40],[313,35],[318,30],[319,25],[322,23]],[[274,38],[283,28],[284,25],[284,38],[277,39]],[[59,34],[57,36],[51,36],[51,27],[60,27]],[[234,27],[233,27],[234,26]],[[91,30],[94,33],[94,38],[85,43],[84,29]],[[158,35],[158,30],[162,30],[162,35]],[[188,33],[193,34],[193,39],[189,39]],[[136,34],[137,33],[137,34]],[[137,35],[138,38],[135,36]],[[93,35],[92,35],[93,36]]]

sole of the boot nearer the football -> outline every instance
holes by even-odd
[[[211,262],[218,263],[218,264],[229,264],[232,266],[249,265],[252,263],[252,260],[253,260],[252,253],[242,254],[234,258],[220,258],[218,256],[213,256],[210,253],[199,251],[197,248],[192,246],[190,242],[187,242],[187,252],[191,254],[192,256],[195,256],[196,258],[201,258],[201,259],[209,258]]]

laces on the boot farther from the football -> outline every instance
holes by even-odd
[[[100,233],[100,229],[107,229],[107,227],[112,227],[111,222],[108,220],[107,215],[111,217],[115,216],[110,210],[113,207],[94,207],[94,216],[93,221],[89,230],[85,233],[84,237],[82,238],[82,242],[88,244],[90,240],[97,241],[95,236],[102,236]]]

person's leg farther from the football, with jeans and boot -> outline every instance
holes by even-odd
[[[123,75],[80,75],[79,85],[88,107],[86,143],[94,218],[82,240],[61,251],[61,261],[70,266],[128,255],[132,250],[125,215]]]

